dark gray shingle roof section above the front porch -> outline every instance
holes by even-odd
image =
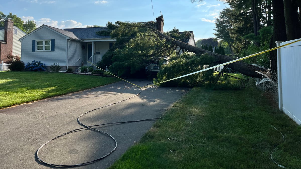
[[[110,36],[102,36],[102,35],[96,35],[96,32],[102,31],[102,30],[108,30],[108,28],[105,27],[93,27],[93,28],[71,28],[71,29],[64,29],[66,31],[73,32],[77,37],[81,39],[92,39],[92,38],[111,38]]]

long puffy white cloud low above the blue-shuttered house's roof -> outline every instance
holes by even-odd
[[[41,18],[38,21],[36,21],[36,24],[38,27],[45,24],[59,29],[87,27],[87,25],[82,25],[82,23],[77,22],[75,20],[57,21],[57,20],[51,20],[50,18]]]

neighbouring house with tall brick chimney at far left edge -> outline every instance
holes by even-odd
[[[14,22],[7,18],[4,27],[0,27],[0,61],[4,60],[8,54],[21,55],[21,42],[19,38],[26,35]]]

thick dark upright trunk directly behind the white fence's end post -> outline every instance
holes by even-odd
[[[275,48],[275,41],[287,41],[285,19],[284,19],[284,4],[283,0],[272,0],[274,32],[270,42],[270,48]],[[271,69],[277,70],[277,52],[270,51]]]

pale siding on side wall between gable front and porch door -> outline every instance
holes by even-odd
[[[69,53],[68,53],[68,66],[81,66],[81,63],[84,62],[86,64],[87,62],[87,49],[82,49],[82,45],[86,45],[86,42],[80,42],[80,41],[69,41]],[[78,60],[80,57],[80,60]],[[78,60],[78,61],[77,61]],[[76,62],[77,61],[77,62]],[[73,65],[73,63],[75,63]]]

